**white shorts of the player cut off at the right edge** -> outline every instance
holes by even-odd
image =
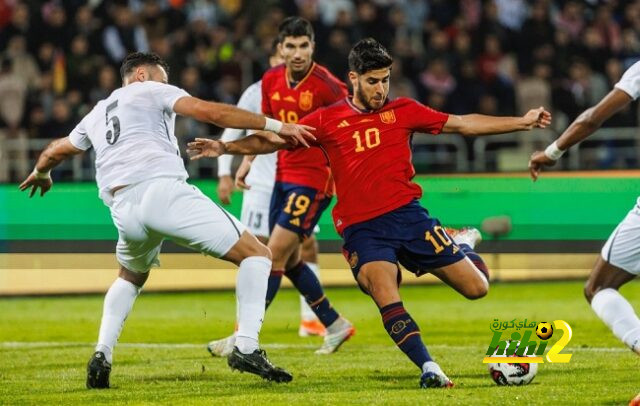
[[[636,205],[602,247],[602,259],[634,275],[640,274],[640,207]]]

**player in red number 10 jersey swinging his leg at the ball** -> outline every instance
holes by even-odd
[[[402,304],[398,263],[418,276],[436,275],[469,299],[487,294],[488,269],[473,251],[477,230],[453,235],[418,203],[422,190],[411,181],[411,136],[544,128],[551,115],[539,108],[523,117],[457,116],[408,98],[388,100],[391,64],[387,50],[374,39],[358,42],[349,54],[353,98],[320,109],[301,123],[316,128],[316,142],[329,156],[338,197],[334,222],[359,286],[378,305],[393,341],[420,368],[420,386],[450,387],[453,383],[429,355]],[[270,133],[227,144],[202,139],[190,144],[193,159],[276,148],[291,146]]]

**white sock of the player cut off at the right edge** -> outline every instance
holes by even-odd
[[[616,337],[640,355],[640,320],[617,290],[599,291],[593,296],[591,307]]]

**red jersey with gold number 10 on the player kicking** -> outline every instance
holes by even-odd
[[[422,196],[411,180],[411,135],[439,134],[448,114],[408,98],[361,111],[345,98],[301,120],[316,128],[317,143],[327,152],[338,202],[333,221],[338,233]]]

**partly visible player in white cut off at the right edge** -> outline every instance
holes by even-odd
[[[602,123],[640,96],[640,62],[633,64],[597,105],[585,110],[545,151],[529,161],[535,181],[543,166],[552,166],[572,145],[595,132]],[[613,230],[584,288],[587,301],[616,337],[640,355],[640,320],[618,292],[640,274],[640,198]]]

